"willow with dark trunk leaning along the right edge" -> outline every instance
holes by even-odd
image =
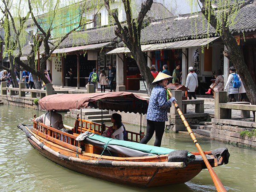
[[[248,67],[244,62],[243,55],[236,39],[230,32],[230,26],[237,20],[237,14],[241,8],[253,2],[253,0],[216,0],[217,10],[212,7],[211,0],[200,0],[202,3],[201,11],[208,23],[221,36],[227,50],[223,52],[233,65],[243,81],[244,88],[251,104],[256,105],[256,85],[249,73]]]

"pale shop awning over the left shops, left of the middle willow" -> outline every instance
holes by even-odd
[[[107,42],[102,44],[90,44],[90,45],[84,45],[84,46],[77,46],[77,47],[67,47],[67,48],[61,48],[61,49],[55,49],[53,53],[64,53],[64,52],[73,52],[73,51],[80,51],[80,50],[92,50],[92,49],[101,49],[103,47],[107,47],[108,45],[113,44],[114,42]]]

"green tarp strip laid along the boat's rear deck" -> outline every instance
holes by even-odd
[[[157,147],[152,145],[146,145],[142,143],[135,143],[130,141],[124,141],[124,140],[114,140],[112,138],[103,137],[97,134],[94,134],[93,136],[89,137],[92,140],[100,141],[102,143],[108,143],[111,145],[119,145],[127,148],[132,148],[138,151],[143,151],[145,153],[151,153],[151,154],[169,154],[171,151],[175,151],[175,149],[170,148],[164,148],[164,147]]]

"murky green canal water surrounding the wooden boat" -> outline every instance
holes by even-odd
[[[59,166],[41,156],[17,124],[31,125],[33,114],[43,112],[27,108],[0,105],[0,191],[54,191],[54,192],[214,192],[216,191],[207,169],[184,184],[139,189],[106,182],[79,174]],[[64,113],[63,113],[64,115]],[[64,124],[73,125],[73,119],[63,118]],[[139,127],[126,125],[128,130]],[[131,130],[132,131],[132,130]],[[227,147],[230,162],[214,168],[228,192],[253,192],[256,189],[256,151],[239,148],[204,137],[198,137],[204,151]],[[150,141],[153,145],[154,139]],[[165,133],[163,147],[197,151],[187,134]]]

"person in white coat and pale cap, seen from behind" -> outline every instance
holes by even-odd
[[[189,89],[188,90],[189,99],[192,99],[192,96],[194,97],[194,99],[196,99],[195,88],[198,87],[198,77],[193,67],[189,67],[189,74],[186,79],[185,87]]]

